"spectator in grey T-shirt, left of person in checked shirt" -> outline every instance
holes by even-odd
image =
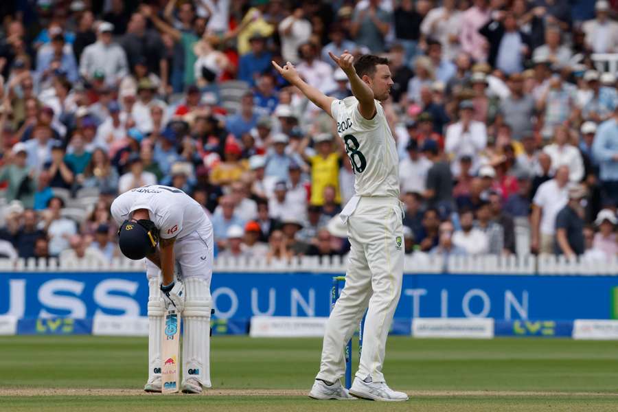
[[[500,103],[500,113],[504,122],[510,126],[513,139],[521,141],[527,130],[531,130],[534,115],[534,98],[523,91],[523,76],[514,73],[509,76],[511,94]]]

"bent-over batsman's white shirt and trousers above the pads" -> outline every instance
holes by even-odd
[[[183,277],[204,277],[208,285],[212,274],[213,232],[211,222],[199,203],[176,187],[151,185],[137,187],[118,196],[111,214],[118,225],[130,219],[137,209],[147,209],[150,220],[162,239],[176,238],[174,257]],[[159,277],[159,268],[146,260],[148,278]]]

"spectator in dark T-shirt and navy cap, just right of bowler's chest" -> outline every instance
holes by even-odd
[[[434,140],[425,141],[423,153],[433,163],[427,171],[423,197],[428,201],[429,207],[438,208],[441,214],[446,215],[453,209],[453,174],[450,172],[450,165],[439,155]]]

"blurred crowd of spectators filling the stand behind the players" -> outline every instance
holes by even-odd
[[[618,253],[615,1],[0,5],[0,255],[108,261],[122,192],[177,187],[227,257],[345,255],[328,53],[389,58],[407,253]],[[598,59],[597,59],[598,60]],[[611,59],[609,59],[611,60]],[[617,59],[618,60],[618,59]],[[615,69],[615,67],[613,67]]]

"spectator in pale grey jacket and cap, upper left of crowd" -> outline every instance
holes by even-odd
[[[114,86],[128,74],[126,54],[122,47],[112,43],[114,26],[106,21],[99,23],[98,41],[84,49],[80,58],[80,75],[92,80],[95,73],[103,73],[106,84]]]

